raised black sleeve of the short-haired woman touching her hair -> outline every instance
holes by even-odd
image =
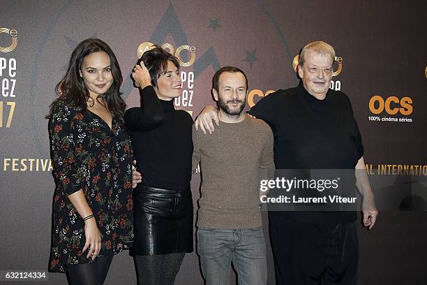
[[[126,128],[130,131],[149,131],[163,124],[163,108],[154,88],[140,90],[141,108],[130,108],[125,113]]]

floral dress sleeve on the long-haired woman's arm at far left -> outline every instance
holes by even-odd
[[[54,177],[66,195],[84,187],[83,175],[80,173],[76,157],[75,112],[65,108],[52,115],[49,122],[50,149],[54,163]]]

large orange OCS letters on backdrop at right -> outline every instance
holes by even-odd
[[[412,98],[403,97],[399,100],[396,96],[390,96],[384,100],[382,96],[375,95],[369,100],[369,110],[373,114],[380,114],[384,110],[389,115],[400,114],[407,116],[412,114]]]

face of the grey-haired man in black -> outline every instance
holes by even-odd
[[[332,64],[334,59],[329,54],[308,52],[303,66],[299,66],[298,75],[307,92],[323,100],[331,84]]]

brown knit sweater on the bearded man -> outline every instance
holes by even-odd
[[[197,226],[262,226],[260,180],[273,179],[273,133],[260,119],[220,122],[212,134],[193,127],[193,169],[202,178]]]

